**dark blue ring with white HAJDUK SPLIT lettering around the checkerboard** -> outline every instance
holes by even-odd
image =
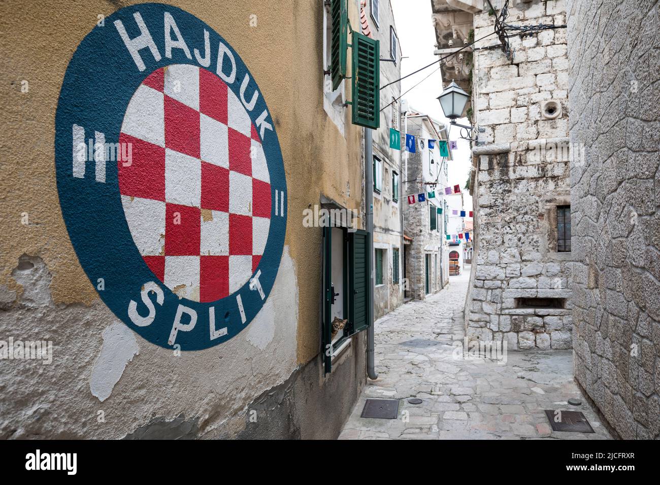
[[[145,70],[139,71],[128,49],[123,44],[115,20],[121,20],[129,38],[140,34],[134,13],[139,12],[160,51],[160,61],[156,61],[149,48],[139,53],[145,63]],[[119,131],[131,97],[138,86],[152,71],[172,64],[191,64],[203,68],[193,59],[188,59],[182,49],[172,49],[172,58],[164,55],[164,13],[169,12],[176,21],[191,53],[193,49],[204,49],[204,30],[209,32],[211,65],[209,71],[215,71],[218,45],[222,42],[236,60],[236,81],[228,87],[240,98],[240,83],[249,75],[250,83],[247,96],[256,88],[259,92],[255,108],[249,113],[252,123],[267,110],[263,94],[255,79],[249,74],[248,67],[240,55],[208,24],[178,7],[162,3],[143,3],[124,7],[104,19],[104,26],[96,26],[76,49],[65,73],[55,114],[55,168],[57,172],[57,191],[62,215],[69,232],[69,238],[76,255],[94,288],[99,278],[104,280],[104,289],[97,288],[103,302],[129,328],[143,338],[158,346],[172,348],[168,344],[170,331],[178,306],[194,309],[197,323],[191,331],[178,331],[175,344],[181,350],[201,350],[226,342],[238,335],[257,315],[273,288],[279,269],[284,237],[286,235],[287,191],[286,175],[282,153],[275,132],[270,112],[266,121],[273,126],[272,131],[265,129],[261,141],[269,176],[271,195],[275,189],[283,193],[284,215],[275,215],[276,205],[271,203],[271,225],[266,247],[256,271],[261,271],[259,282],[265,298],[259,292],[249,288],[246,282],[239,290],[226,298],[212,303],[200,303],[179,298],[150,271],[141,255],[125,219],[119,183],[117,182],[117,163],[106,162],[106,182],[94,179],[94,161],[86,162],[84,178],[74,178],[73,164],[73,125],[84,127],[85,139],[94,137],[94,132],[102,132],[106,143],[118,143]],[[247,110],[246,110],[247,111]],[[258,129],[258,127],[257,127]],[[254,275],[253,273],[253,275]],[[140,315],[147,315],[149,309],[142,302],[141,290],[147,282],[155,282],[164,293],[164,302],[156,302],[156,294],[150,292],[149,298],[156,309],[154,321],[145,327],[138,327],[128,316],[131,300],[137,303]],[[245,323],[240,313],[237,296],[240,295],[244,308]],[[209,309],[215,310],[215,328],[226,327],[226,335],[211,339]],[[183,316],[182,323],[187,323]]]

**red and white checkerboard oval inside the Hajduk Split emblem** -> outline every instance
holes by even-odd
[[[238,290],[263,255],[271,185],[259,135],[231,89],[202,67],[157,69],[121,125],[132,162],[118,162],[133,242],[170,290],[215,302]]]

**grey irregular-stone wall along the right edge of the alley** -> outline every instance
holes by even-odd
[[[659,12],[568,2],[574,370],[624,439],[660,432]]]

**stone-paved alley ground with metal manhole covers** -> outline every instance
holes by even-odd
[[[364,387],[339,439],[611,439],[574,382],[572,350],[463,358],[469,271],[376,321],[378,380]],[[399,399],[397,419],[360,417],[367,399]],[[554,432],[545,410],[579,410],[595,433]]]

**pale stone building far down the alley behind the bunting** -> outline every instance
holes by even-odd
[[[405,133],[413,135],[417,144],[413,153],[405,152],[403,162],[404,227],[411,238],[405,245],[406,296],[414,300],[440,291],[449,280],[444,187],[451,150],[448,157],[440,155],[438,141],[446,140],[440,126],[438,121],[415,110],[405,113]],[[436,141],[432,148],[429,139]],[[420,193],[424,194],[424,201],[419,200]],[[414,201],[409,201],[409,197],[414,197]]]

